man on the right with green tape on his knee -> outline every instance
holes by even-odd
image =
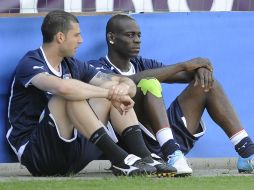
[[[137,84],[135,111],[139,121],[151,128],[146,138],[152,152],[162,153],[177,174],[190,175],[192,169],[183,155],[204,134],[201,116],[207,109],[211,118],[225,131],[235,146],[239,172],[252,172],[254,144],[242,127],[222,87],[213,78],[209,60],[195,58],[175,65],[138,56],[141,31],[134,18],[118,14],[106,26],[108,54],[89,64],[105,73],[129,76]],[[165,109],[160,83],[189,83],[188,87]],[[152,137],[152,138],[150,138]],[[155,138],[154,138],[155,139]]]

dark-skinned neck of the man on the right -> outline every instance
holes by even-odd
[[[130,58],[124,58],[116,53],[108,53],[110,62],[123,72],[130,69]]]

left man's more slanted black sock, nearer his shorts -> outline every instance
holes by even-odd
[[[122,165],[123,160],[128,156],[128,153],[108,136],[103,127],[95,131],[89,141],[98,146],[114,165]]]

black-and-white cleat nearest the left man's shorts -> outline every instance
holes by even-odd
[[[146,164],[141,158],[133,154],[129,154],[121,166],[112,165],[111,170],[116,176],[150,175],[157,171],[155,167]]]

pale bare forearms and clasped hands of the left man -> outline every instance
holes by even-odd
[[[107,98],[111,100],[115,108],[123,114],[134,106],[134,101],[127,94],[129,92],[133,96],[135,95],[135,84],[128,79],[127,82],[129,82],[130,85],[134,85],[130,88],[124,83],[125,79],[121,79],[121,77],[117,77],[115,80],[109,79],[105,82],[97,74],[92,80],[95,85],[100,85],[100,87],[98,87],[75,79],[64,80],[53,75],[40,73],[32,79],[31,83],[38,89],[51,92],[54,95],[62,96],[65,99],[72,101],[82,101],[90,98]],[[127,88],[122,85],[118,87],[119,84],[124,84]],[[114,89],[113,87],[115,86],[116,88]]]

